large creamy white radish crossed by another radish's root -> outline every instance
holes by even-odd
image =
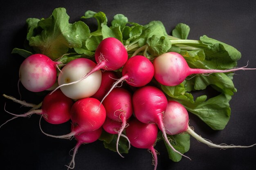
[[[92,60],[87,58],[78,58],[72,60],[61,69],[61,73],[58,75],[58,84],[61,91],[72,99],[82,99],[85,97],[91,97],[94,95],[101,85],[101,71],[96,71],[90,75],[87,79],[81,82],[72,84],[80,80],[81,77],[92,68],[96,66]],[[62,84],[71,84],[70,86],[61,86]],[[58,89],[58,88],[56,88]],[[55,90],[56,90],[55,89]],[[54,90],[54,91],[55,91]],[[54,92],[53,91],[53,92]]]

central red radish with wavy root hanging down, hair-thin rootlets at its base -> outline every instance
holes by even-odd
[[[126,127],[126,120],[132,116],[132,95],[124,88],[115,88],[103,101],[107,117],[115,121],[121,121],[122,127],[118,131],[117,137],[117,153],[123,157],[118,150],[118,143],[121,133]]]

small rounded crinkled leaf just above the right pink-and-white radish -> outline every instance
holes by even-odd
[[[171,42],[164,36],[153,35],[146,40],[148,51],[153,56],[166,53],[171,48]]]

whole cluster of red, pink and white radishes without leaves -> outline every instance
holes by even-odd
[[[142,55],[129,58],[125,46],[116,38],[101,41],[95,51],[95,60],[97,64],[90,59],[79,58],[63,66],[43,54],[34,54],[20,66],[20,82],[27,90],[40,92],[50,89],[52,92],[43,99],[41,109],[32,106],[28,113],[11,114],[15,115],[14,118],[41,114],[51,124],[71,120],[71,132],[60,136],[47,134],[40,127],[47,136],[76,138],[77,144],[68,168],[74,168],[74,157],[79,146],[99,139],[102,129],[117,134],[116,150],[121,157],[118,148],[120,137],[124,137],[129,145],[150,150],[155,170],[157,153],[154,145],[158,129],[162,131],[166,143],[180,155],[183,154],[173,148],[166,134],[188,132],[198,141],[218,148],[251,147],[216,145],[203,139],[189,127],[189,117],[184,106],[168,101],[151,81],[154,77],[160,84],[176,86],[191,74],[224,73],[250,68],[189,68],[182,55],[175,52],[155,57],[153,62]],[[122,72],[118,75],[115,70],[120,68]],[[123,81],[126,84],[121,84]]]

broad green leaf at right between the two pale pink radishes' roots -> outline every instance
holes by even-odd
[[[195,99],[195,102],[193,95],[186,92],[184,83],[178,86],[161,85],[161,88],[171,99],[180,102],[189,112],[197,115],[213,130],[222,130],[227,125],[231,113],[229,107],[230,95],[221,93],[208,100],[203,95],[203,97],[200,96],[201,98]]]

